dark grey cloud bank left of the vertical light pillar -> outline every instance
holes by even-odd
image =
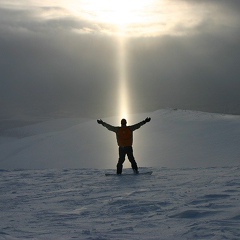
[[[0,16],[2,110],[91,116],[107,108],[111,93],[102,92],[114,87],[115,40],[74,33],[84,27],[75,18],[38,21],[12,9],[1,9]]]

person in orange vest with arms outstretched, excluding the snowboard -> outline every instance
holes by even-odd
[[[121,127],[114,127],[104,121],[102,119],[97,120],[98,124],[102,124],[109,131],[116,133],[117,143],[119,146],[119,159],[117,163],[117,174],[122,174],[123,163],[125,161],[125,156],[128,156],[129,161],[131,162],[131,166],[133,172],[138,174],[138,166],[133,156],[133,131],[140,128],[147,122],[150,122],[151,118],[146,118],[145,120],[134,124],[132,126],[127,126],[127,120],[121,120]]]

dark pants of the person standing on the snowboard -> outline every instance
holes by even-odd
[[[131,165],[132,165],[132,169],[133,170],[138,170],[138,166],[137,163],[134,159],[133,156],[133,148],[132,146],[129,147],[119,147],[119,159],[118,159],[118,164],[117,164],[117,174],[121,174],[122,173],[122,168],[123,168],[123,163],[125,161],[125,156],[128,156],[128,160],[130,161]]]

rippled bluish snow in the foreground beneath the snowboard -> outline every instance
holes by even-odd
[[[0,239],[240,238],[239,167],[142,170],[1,171]]]

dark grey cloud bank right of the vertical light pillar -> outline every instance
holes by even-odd
[[[133,40],[129,51],[135,109],[239,111],[237,39],[222,32]]]

